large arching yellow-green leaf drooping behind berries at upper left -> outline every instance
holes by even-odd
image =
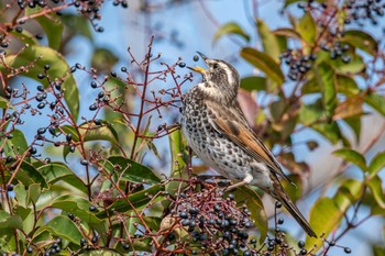
[[[37,74],[44,70],[44,65],[48,64],[51,66],[48,70],[51,80],[65,77],[62,84],[64,99],[74,120],[77,120],[79,113],[79,91],[73,74],[67,74],[69,66],[66,63],[66,59],[58,52],[46,46],[35,45],[26,47],[18,55],[7,56],[6,60],[7,64],[13,68],[25,67],[35,62],[33,68],[29,68],[29,71],[20,75],[35,79],[37,82],[42,82],[45,88],[50,86],[48,81],[46,79],[37,79]]]

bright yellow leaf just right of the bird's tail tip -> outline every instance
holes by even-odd
[[[316,234],[324,233],[324,237],[328,237],[330,232],[338,227],[342,216],[343,212],[336,207],[331,198],[320,198],[310,210],[309,223]],[[310,236],[306,237],[306,248],[312,249],[314,254],[319,248],[322,248],[322,240]]]

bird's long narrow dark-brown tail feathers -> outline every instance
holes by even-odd
[[[280,186],[279,186],[280,187]],[[305,219],[302,213],[300,213],[299,209],[294,204],[294,202],[290,200],[290,198],[287,196],[287,193],[284,191],[284,189],[280,187],[280,189],[277,189],[278,191],[275,191],[274,196],[275,199],[277,199],[279,202],[282,202],[287,211],[296,219],[298,224],[306,231],[306,233],[309,236],[317,237],[316,232],[311,229],[309,222]]]

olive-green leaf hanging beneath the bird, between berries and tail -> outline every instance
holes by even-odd
[[[261,232],[260,243],[263,243],[267,235],[268,223],[260,196],[245,186],[238,188],[233,193],[237,198],[238,204],[246,204],[251,212],[250,216],[254,221],[254,225]]]

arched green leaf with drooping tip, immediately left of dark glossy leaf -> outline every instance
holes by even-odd
[[[38,167],[37,170],[45,177],[50,185],[64,181],[85,193],[88,192],[87,186],[82,182],[82,180],[63,163],[51,163],[43,165]]]

